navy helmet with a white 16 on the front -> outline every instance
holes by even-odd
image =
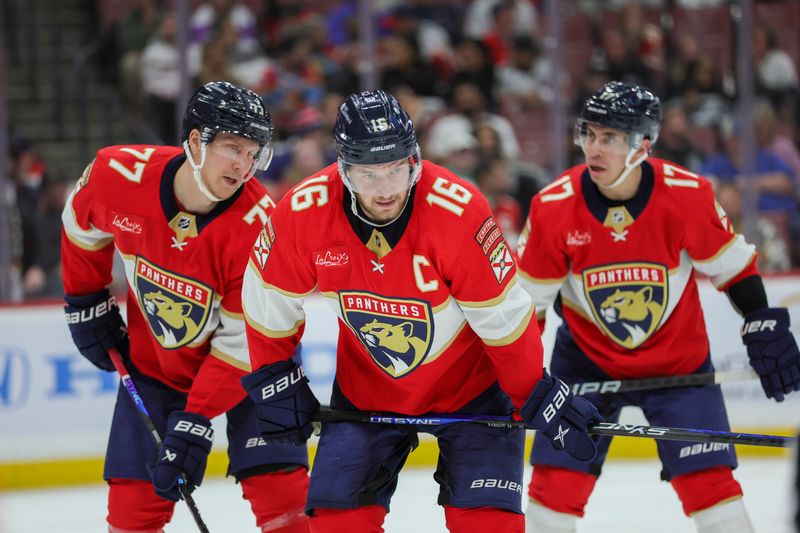
[[[364,91],[348,96],[339,106],[333,138],[339,173],[351,191],[358,192],[349,176],[352,165],[380,165],[407,159],[408,189],[419,179],[422,160],[417,134],[408,113],[386,91]]]

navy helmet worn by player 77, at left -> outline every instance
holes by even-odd
[[[189,100],[183,115],[182,139],[192,129],[200,130],[208,144],[219,132],[253,140],[262,149],[272,140],[272,116],[259,95],[227,81],[206,83]]]

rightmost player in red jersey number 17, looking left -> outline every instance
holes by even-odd
[[[563,318],[550,370],[572,382],[711,372],[694,271],[707,275],[744,316],[742,337],[766,395],[800,388],[800,355],[786,309],[770,308],[755,248],[734,232],[701,176],[648,158],[661,123],[658,98],[611,82],[591,96],[575,142],[586,164],[564,172],[532,200],[518,256],[523,285],[543,321]],[[733,333],[733,331],[731,332]],[[586,396],[616,420],[636,405],[655,425],[728,430],[718,385]],[[534,441],[528,523],[574,531],[608,451],[591,463]],[[669,480],[698,531],[752,531],[730,445],[659,441]]]

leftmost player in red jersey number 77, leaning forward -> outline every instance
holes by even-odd
[[[239,380],[250,370],[241,305],[253,240],[274,208],[250,180],[266,168],[272,119],[261,98],[227,82],[204,85],[183,119],[183,149],[103,148],[63,213],[68,324],[95,366],[117,349],[163,436],[160,449],[120,387],[106,454],[111,532],[158,532],[199,485],[210,419],[227,414],[228,474],[262,531],[308,531],[308,457],[267,446]],[[114,249],[128,282],[127,329],[113,296]],[[189,428],[189,429],[187,429]],[[157,452],[157,453],[156,453]]]

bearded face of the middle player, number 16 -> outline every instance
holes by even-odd
[[[350,165],[348,179],[364,214],[378,223],[397,218],[409,190],[408,159],[379,165]]]

